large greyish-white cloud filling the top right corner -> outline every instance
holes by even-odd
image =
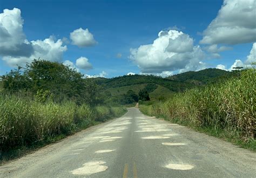
[[[224,0],[203,32],[202,44],[240,44],[256,41],[255,0]]]

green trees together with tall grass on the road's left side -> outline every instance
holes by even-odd
[[[46,60],[5,74],[0,90],[0,161],[126,112],[93,80]]]

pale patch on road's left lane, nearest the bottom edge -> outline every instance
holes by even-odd
[[[104,161],[94,161],[87,162],[83,164],[83,167],[72,170],[70,173],[76,175],[91,175],[99,172],[103,172],[107,169],[107,166],[104,166],[106,162]]]

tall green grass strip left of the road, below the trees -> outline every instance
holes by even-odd
[[[69,135],[95,121],[119,117],[125,111],[124,107],[91,108],[71,101],[42,103],[16,95],[0,95],[0,152],[31,146],[57,135]]]

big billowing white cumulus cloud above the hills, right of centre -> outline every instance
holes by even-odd
[[[141,45],[130,52],[130,59],[142,73],[199,70],[200,61],[205,57],[200,46],[193,46],[192,38],[176,30],[160,31],[152,44]]]

